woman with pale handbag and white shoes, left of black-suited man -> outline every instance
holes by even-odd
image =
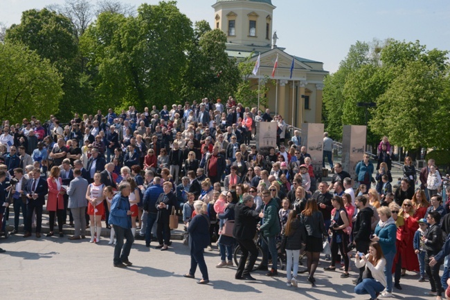
[[[233,266],[233,248],[236,244],[236,239],[233,237],[233,227],[235,220],[235,204],[239,202],[237,194],[235,191],[228,191],[226,193],[226,206],[222,214],[217,214],[217,218],[220,220],[219,228],[219,245],[220,259],[221,262],[218,263],[215,268],[222,268],[226,265]],[[226,253],[228,255],[226,256]],[[226,263],[226,257],[228,258],[228,263]]]

